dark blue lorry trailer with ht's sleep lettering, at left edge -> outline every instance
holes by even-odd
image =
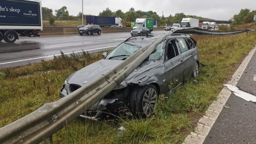
[[[0,41],[13,43],[19,36],[40,36],[43,30],[39,0],[0,0]]]

